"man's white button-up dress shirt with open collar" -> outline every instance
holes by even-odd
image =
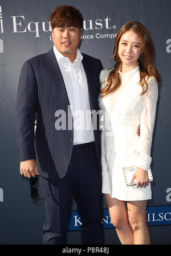
[[[70,101],[74,145],[94,141],[87,78],[82,64],[83,56],[78,49],[75,61],[71,62],[56,49],[55,45],[53,49]]]

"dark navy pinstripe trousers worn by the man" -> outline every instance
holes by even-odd
[[[72,196],[82,222],[82,244],[103,244],[101,172],[95,143],[75,145],[67,174],[61,178],[40,178],[45,199],[44,244],[67,244]]]

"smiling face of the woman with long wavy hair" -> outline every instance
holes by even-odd
[[[140,37],[132,30],[125,32],[120,38],[118,49],[122,71],[136,66],[142,52]]]

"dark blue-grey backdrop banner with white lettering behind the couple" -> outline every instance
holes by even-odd
[[[143,23],[152,36],[161,75],[152,145],[152,200],[146,216],[152,243],[171,244],[171,1],[170,0],[1,0],[0,1],[0,244],[42,244],[44,201],[33,201],[30,183],[19,173],[15,106],[19,74],[29,58],[53,46],[50,15],[73,5],[83,15],[80,50],[112,68],[115,38],[128,21]],[[87,181],[88,182],[88,181]],[[36,184],[41,197],[39,182]],[[106,244],[119,244],[105,201]],[[81,219],[73,202],[68,243],[80,244]]]

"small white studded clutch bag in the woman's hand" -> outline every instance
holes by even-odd
[[[133,183],[130,183],[132,176],[136,170],[137,170],[136,166],[123,167],[124,179],[125,179],[125,183],[128,187],[135,186],[137,184],[136,179],[133,181]],[[148,181],[153,182],[153,175],[152,175],[152,171],[150,168],[148,169]]]

